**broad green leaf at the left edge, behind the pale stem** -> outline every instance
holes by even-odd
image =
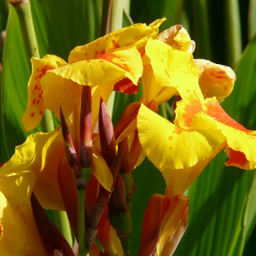
[[[1,110],[5,157],[14,153],[15,146],[23,143],[27,136],[20,123],[26,108],[26,86],[30,76],[30,67],[26,61],[26,52],[20,33],[15,9],[10,8],[7,36],[3,51],[3,79],[1,83]],[[4,154],[3,154],[4,156]],[[7,160],[2,158],[1,161]]]

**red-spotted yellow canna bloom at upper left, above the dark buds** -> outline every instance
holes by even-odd
[[[32,58],[32,76],[28,83],[28,99],[22,124],[26,131],[36,127],[45,108],[60,118],[61,106],[67,122],[78,115],[78,95],[82,85],[89,85],[98,101],[93,104],[92,123],[96,123],[99,99],[108,102],[115,90],[137,91],[143,65],[140,50],[148,38],[154,38],[165,19],[155,20],[149,26],[136,24],[98,38],[90,44],[78,46],[68,57],[68,63],[55,55]],[[124,83],[125,80],[125,83]],[[120,83],[123,81],[123,83]],[[136,85],[133,90],[127,84]],[[126,86],[126,87],[125,87]]]

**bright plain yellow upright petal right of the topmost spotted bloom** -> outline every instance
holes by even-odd
[[[150,102],[154,99],[158,104],[179,94],[182,98],[190,94],[201,96],[198,85],[198,68],[189,52],[172,49],[171,46],[159,41],[148,40],[145,46],[147,57],[143,57],[143,64],[151,65],[143,73],[143,102]],[[151,73],[151,74],[150,74]],[[151,76],[154,79],[147,79]],[[172,88],[166,92],[163,87]],[[147,104],[147,103],[146,103]]]

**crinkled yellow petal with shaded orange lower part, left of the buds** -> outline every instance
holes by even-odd
[[[29,171],[37,180],[33,192],[44,208],[64,210],[57,181],[59,160],[66,156],[61,131],[38,132],[16,147],[1,173]]]

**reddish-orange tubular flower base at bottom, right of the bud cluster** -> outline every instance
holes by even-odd
[[[172,255],[188,224],[189,197],[154,194],[143,217],[138,255]]]

